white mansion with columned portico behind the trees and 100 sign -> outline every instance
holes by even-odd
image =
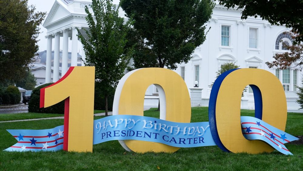
[[[53,74],[54,81],[59,79],[59,53],[60,38],[63,39],[62,74],[67,71],[68,39],[72,40],[71,66],[77,66],[78,36],[76,28],[88,29],[85,20],[85,5],[90,0],[56,0],[49,12],[43,26],[48,29],[46,38],[46,82],[51,81],[51,52],[52,41],[55,41],[55,55]],[[118,0],[114,0],[118,4]],[[124,17],[121,10],[120,16]],[[302,72],[297,69],[277,70],[269,69],[265,62],[272,61],[275,53],[283,53],[287,50],[282,47],[282,41],[291,44],[292,40],[288,34],[290,30],[285,26],[272,26],[261,18],[249,17],[241,20],[241,10],[229,9],[216,5],[213,10],[212,19],[206,23],[211,27],[206,41],[195,49],[192,59],[188,63],[181,63],[175,70],[184,78],[188,88],[194,86],[198,81],[202,88],[201,102],[196,105],[208,106],[211,88],[208,86],[214,82],[216,72],[226,62],[235,62],[241,68],[260,68],[275,74],[283,84],[287,97],[288,111],[298,111],[296,104],[296,86],[301,86]],[[82,54],[85,59],[85,54]],[[190,91],[190,90],[189,90]],[[148,87],[146,91],[145,104],[158,105],[158,97],[155,96],[155,86]],[[194,104],[193,104],[194,105]],[[248,88],[242,97],[242,108],[254,109],[254,98],[252,91]]]

